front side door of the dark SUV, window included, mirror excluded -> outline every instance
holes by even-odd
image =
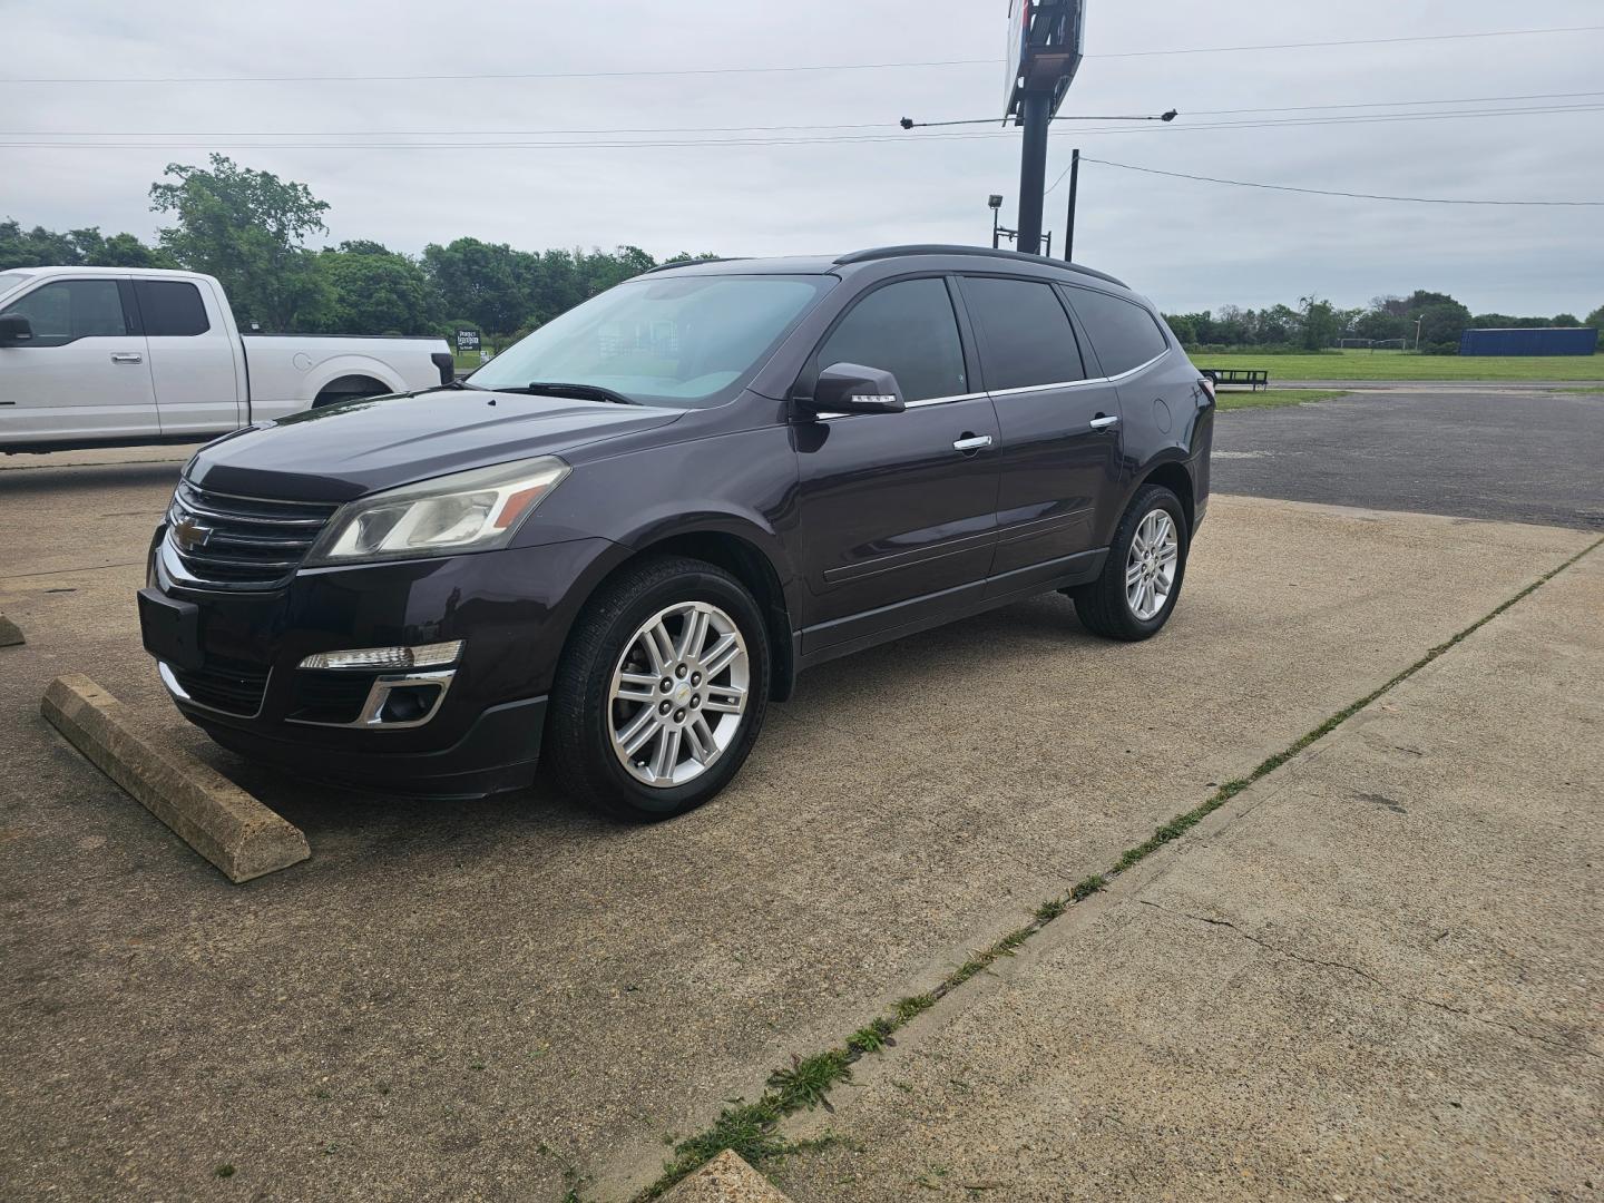
[[[892,372],[908,409],[794,427],[804,653],[978,600],[996,542],[996,411],[970,383],[948,282],[901,279],[860,298],[815,356],[815,369],[836,363]]]

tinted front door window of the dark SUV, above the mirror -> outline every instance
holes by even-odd
[[[840,363],[890,372],[905,401],[967,393],[964,343],[946,282],[908,279],[860,300],[818,348],[820,367]]]

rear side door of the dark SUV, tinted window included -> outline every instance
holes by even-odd
[[[998,547],[991,593],[1081,568],[1116,494],[1113,385],[1089,377],[1068,311],[1051,284],[964,276],[986,390],[1001,427]],[[1097,425],[1094,425],[1094,422]]]

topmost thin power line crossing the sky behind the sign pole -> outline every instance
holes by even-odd
[[[1553,26],[1543,29],[1490,29],[1479,34],[1416,34],[1412,37],[1355,37],[1328,42],[1266,42],[1240,47],[1177,47],[1173,50],[1123,50],[1086,58],[1158,58],[1169,55],[1237,55],[1261,50],[1315,50],[1331,47],[1379,47],[1405,42],[1468,42],[1492,37],[1543,34],[1596,34],[1604,26]],[[8,75],[0,83],[419,83],[439,80],[542,80],[542,79],[651,79],[672,75],[765,75],[812,71],[900,71],[916,67],[1001,66],[994,58],[927,59],[914,63],[824,63],[768,67],[651,67],[634,71],[497,71],[404,75]]]

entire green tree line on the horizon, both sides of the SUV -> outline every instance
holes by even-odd
[[[99,228],[58,233],[0,221],[0,271],[58,265],[186,268],[217,276],[236,319],[268,332],[449,334],[473,327],[492,342],[518,337],[582,300],[656,266],[640,247],[613,250],[516,250],[505,242],[459,237],[431,242],[419,257],[364,239],[313,250],[326,234],[329,205],[306,184],[239,167],[221,154],[210,167],[172,164],[151,184],[151,209],[172,225],[148,245]],[[667,261],[712,258],[678,253]],[[1574,314],[1516,318],[1477,313],[1445,292],[1376,297],[1341,310],[1318,297],[1298,306],[1166,313],[1176,337],[1206,351],[1320,351],[1344,338],[1404,340],[1452,354],[1460,334],[1480,326],[1582,326]],[[1604,327],[1604,305],[1586,318]]]

